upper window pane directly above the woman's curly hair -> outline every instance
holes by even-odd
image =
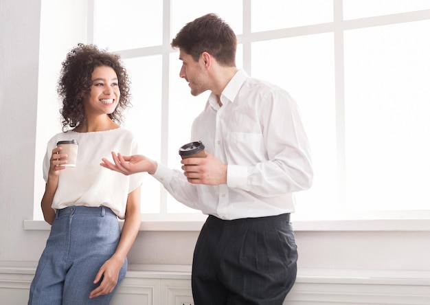
[[[95,0],[94,43],[110,51],[161,45],[163,1]]]

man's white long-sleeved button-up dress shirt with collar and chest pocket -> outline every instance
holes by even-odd
[[[310,188],[313,168],[299,109],[280,87],[238,70],[212,93],[192,124],[190,141],[227,164],[227,184],[193,185],[158,165],[154,177],[175,199],[221,219],[294,212],[293,193]]]

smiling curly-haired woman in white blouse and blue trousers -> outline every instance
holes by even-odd
[[[124,278],[139,231],[142,176],[106,170],[100,159],[112,150],[137,153],[133,134],[119,125],[129,83],[120,56],[94,45],[79,44],[63,62],[63,133],[49,140],[43,162],[41,207],[52,228],[28,304],[109,304]],[[74,168],[56,146],[72,139],[79,145]]]

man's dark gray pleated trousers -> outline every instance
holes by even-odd
[[[234,221],[209,216],[194,249],[195,305],[281,305],[297,274],[289,216]]]

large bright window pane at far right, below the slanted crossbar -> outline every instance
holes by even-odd
[[[352,209],[429,208],[429,36],[430,21],[345,33]]]

